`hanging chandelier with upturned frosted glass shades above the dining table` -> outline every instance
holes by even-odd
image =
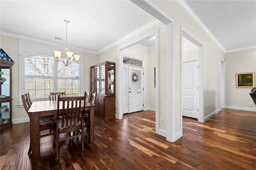
[[[75,58],[75,61],[78,62],[80,55],[74,55],[74,57],[72,56],[73,53],[71,51],[69,51],[68,49],[68,20],[64,20],[66,22],[66,48],[64,49],[64,51],[61,54],[61,51],[54,51],[54,55],[56,57],[57,61],[61,61],[62,63],[64,63],[66,66],[70,65],[73,61],[73,59]]]

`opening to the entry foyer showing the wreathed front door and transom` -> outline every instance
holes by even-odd
[[[149,78],[156,68],[158,53],[156,41],[158,41],[157,30],[120,49],[120,61],[122,60],[121,116],[124,113],[141,110],[156,111],[155,79]],[[148,93],[149,91],[151,93]]]

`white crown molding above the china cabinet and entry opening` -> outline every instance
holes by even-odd
[[[153,27],[153,26],[155,26],[155,25],[157,25],[157,24],[160,24],[160,23],[161,23],[161,22],[160,22],[159,20],[155,19],[155,20],[153,20],[152,22],[149,22],[148,24],[145,24],[144,26],[138,28],[137,30],[134,30],[133,32],[130,32],[130,33],[127,34],[126,36],[124,36],[124,37],[120,38],[119,40],[117,40],[116,42],[111,43],[110,45],[107,45],[106,47],[100,49],[100,50],[98,51],[98,54],[100,54],[100,53],[102,53],[102,52],[104,52],[104,51],[106,51],[106,50],[108,50],[108,49],[110,49],[110,48],[112,48],[112,47],[118,45],[119,43],[122,43],[122,42],[128,40],[129,38],[131,38],[131,37],[133,37],[133,36],[136,36],[136,35],[140,34],[141,32],[144,32],[144,31],[147,30],[148,28],[151,28],[151,27]]]

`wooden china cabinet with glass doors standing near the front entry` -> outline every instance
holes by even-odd
[[[91,92],[97,93],[94,115],[103,120],[115,118],[115,63],[105,61],[91,69]]]

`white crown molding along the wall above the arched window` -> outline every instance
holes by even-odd
[[[24,36],[24,35],[20,35],[20,34],[14,34],[14,33],[11,33],[11,32],[6,32],[6,31],[0,31],[0,35],[11,37],[11,38],[29,40],[29,41],[33,41],[33,42],[44,43],[44,44],[54,45],[54,46],[57,46],[57,47],[66,48],[66,45],[64,45],[62,43],[50,42],[50,41],[46,41],[46,40],[42,40],[42,39],[38,39],[38,38],[34,38],[34,37],[29,37],[29,36]],[[98,54],[96,51],[90,51],[90,50],[82,49],[82,48],[79,48],[79,47],[68,46],[68,48],[74,49],[74,50],[77,50],[77,51],[86,52],[86,53]]]

